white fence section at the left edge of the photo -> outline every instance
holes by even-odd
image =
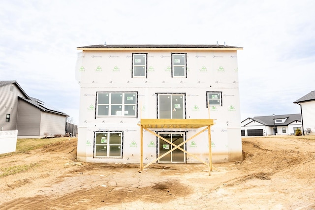
[[[0,154],[15,151],[17,138],[18,138],[18,130],[1,130],[0,131]]]

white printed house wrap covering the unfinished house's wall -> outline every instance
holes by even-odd
[[[132,53],[147,53],[147,78],[131,77]],[[187,77],[171,76],[171,53],[187,53]],[[77,158],[86,162],[139,163],[140,119],[156,119],[159,93],[183,93],[187,119],[211,119],[213,162],[242,160],[240,102],[236,49],[138,49],[94,50],[78,53],[76,80],[81,87]],[[207,108],[206,92],[221,92],[221,106]],[[136,92],[137,117],[96,117],[97,92]],[[210,111],[210,116],[209,116]],[[155,129],[153,129],[155,130]],[[156,129],[183,131],[188,139],[201,129]],[[121,131],[121,158],[95,157],[95,132]],[[143,133],[144,163],[157,158],[158,139]],[[186,150],[208,161],[208,133],[200,134]],[[185,162],[197,163],[189,156]]]

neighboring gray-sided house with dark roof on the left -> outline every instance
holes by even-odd
[[[68,115],[28,96],[16,81],[0,81],[0,97],[2,130],[18,130],[19,138],[64,135]]]

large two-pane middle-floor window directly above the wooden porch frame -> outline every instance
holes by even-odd
[[[185,119],[185,93],[158,93],[158,119]]]

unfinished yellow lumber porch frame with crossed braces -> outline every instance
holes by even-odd
[[[205,165],[207,165],[209,167],[209,176],[211,175],[210,172],[212,172],[213,170],[213,166],[212,166],[212,152],[211,152],[211,130],[210,130],[210,126],[213,125],[213,120],[212,119],[141,119],[140,120],[140,124],[138,124],[140,126],[140,140],[141,140],[141,146],[140,146],[140,172],[143,171],[143,169],[147,168],[148,166],[150,166],[153,163],[156,163],[160,158],[164,157],[165,155],[167,155],[168,153],[179,149],[182,150],[183,152],[185,152],[186,154],[194,157],[195,159],[199,160],[200,162],[204,163]],[[202,129],[201,131],[199,131],[198,133],[196,133],[195,135],[193,135],[192,137],[190,137],[189,139],[185,140],[184,142],[182,142],[179,145],[175,145],[172,142],[168,141],[167,139],[159,136],[157,133],[153,132],[150,129],[160,129],[160,128],[184,128],[184,129],[188,129],[188,128],[201,128],[201,127],[205,127],[204,129]],[[166,153],[162,154],[161,156],[159,156],[158,158],[156,158],[155,160],[151,161],[150,163],[148,163],[147,165],[143,166],[143,129],[145,129],[146,131],[148,131],[149,133],[152,133],[153,135],[157,136],[158,138],[164,140],[165,142],[167,142],[170,145],[173,145],[173,149],[167,151]],[[196,136],[198,136],[199,134],[201,134],[202,132],[208,130],[208,143],[209,143],[209,163],[203,161],[202,159],[200,159],[199,157],[191,154],[190,152],[183,150],[182,148],[180,148],[182,145],[184,145],[185,143],[187,143],[188,141],[192,140],[193,138],[195,138]]]

